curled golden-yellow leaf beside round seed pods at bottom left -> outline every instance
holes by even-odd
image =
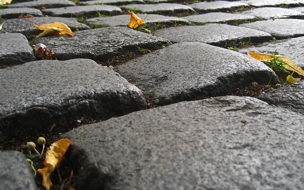
[[[60,139],[53,143],[45,155],[44,168],[37,170],[42,175],[42,185],[49,190],[53,183],[50,179],[50,174],[60,164],[67,148],[72,144],[71,140]]]

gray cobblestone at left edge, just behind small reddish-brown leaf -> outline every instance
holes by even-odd
[[[42,12],[39,9],[24,7],[4,9],[2,19],[16,19],[20,15],[43,16]]]

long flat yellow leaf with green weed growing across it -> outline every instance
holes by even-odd
[[[270,60],[274,59],[272,54],[261,54],[261,53],[255,53],[249,51],[247,52],[247,55],[257,60],[266,61],[266,62],[269,62]],[[299,67],[299,65],[297,65],[295,62],[293,62],[289,57],[285,57],[283,55],[276,55],[275,57],[278,58],[279,60],[282,60],[286,64],[284,65],[284,67],[287,70],[294,71],[299,75],[304,76],[304,70],[301,67]]]

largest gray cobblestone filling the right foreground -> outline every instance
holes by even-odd
[[[66,157],[79,190],[304,189],[303,122],[250,97],[180,102],[74,129]]]

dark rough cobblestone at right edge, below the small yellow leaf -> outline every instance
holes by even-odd
[[[304,81],[277,88],[274,91],[260,95],[258,98],[294,112],[304,115]]]

